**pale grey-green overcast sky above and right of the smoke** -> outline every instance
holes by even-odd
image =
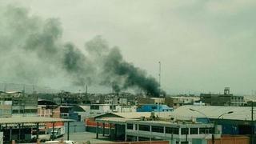
[[[83,47],[95,35],[158,78],[168,93],[256,90],[254,0],[0,1],[59,18],[64,41]]]

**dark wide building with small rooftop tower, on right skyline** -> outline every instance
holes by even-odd
[[[200,99],[210,106],[243,106],[245,104],[243,96],[230,94],[229,88],[224,90],[224,94],[200,94]]]

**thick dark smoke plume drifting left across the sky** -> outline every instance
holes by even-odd
[[[0,10],[0,78],[42,83],[50,79],[74,86],[112,86],[115,92],[140,89],[159,96],[158,82],[144,70],[126,62],[118,47],[97,36],[86,42],[86,54],[73,43],[62,42],[56,18],[31,16],[24,8]],[[58,81],[59,80],[59,81]]]

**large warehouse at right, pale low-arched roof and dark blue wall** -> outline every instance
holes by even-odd
[[[232,114],[228,114],[229,112]],[[215,122],[222,126],[222,134],[230,135],[250,135],[256,127],[256,115],[254,114],[252,123],[249,106],[181,106],[170,114],[170,118]]]

